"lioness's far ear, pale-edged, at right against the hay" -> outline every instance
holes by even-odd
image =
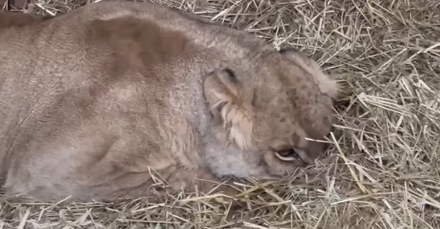
[[[312,75],[317,81],[322,93],[329,95],[333,99],[336,98],[338,94],[338,85],[336,81],[330,79],[328,75],[324,74],[315,60],[294,48],[281,49],[279,52],[310,73],[310,75]]]

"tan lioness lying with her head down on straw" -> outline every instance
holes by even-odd
[[[148,2],[0,13],[6,195],[53,201],[209,191],[312,163],[337,86],[295,50]],[[203,181],[203,179],[205,181]],[[151,192],[150,192],[151,193]]]

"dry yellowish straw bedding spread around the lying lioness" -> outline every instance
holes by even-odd
[[[439,229],[440,1],[155,0],[313,56],[343,85],[328,157],[235,202],[192,193],[67,206],[0,200],[0,228]],[[37,0],[62,14],[84,0]]]

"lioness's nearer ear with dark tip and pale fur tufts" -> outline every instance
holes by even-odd
[[[203,83],[203,91],[214,121],[225,129],[229,140],[242,150],[251,145],[252,119],[243,103],[237,80],[231,69],[217,69]]]

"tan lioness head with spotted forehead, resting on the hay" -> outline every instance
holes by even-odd
[[[330,133],[336,83],[295,50],[274,51],[260,61],[252,70],[220,68],[204,81],[217,138],[229,144],[228,152],[241,154],[209,155],[218,174],[282,175],[325,151],[313,140]]]

